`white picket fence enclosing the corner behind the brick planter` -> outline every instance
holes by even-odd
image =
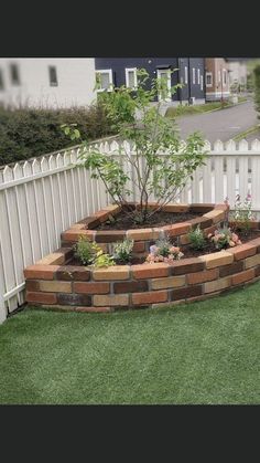
[[[133,149],[126,141],[124,148]],[[108,156],[119,156],[117,141],[96,144]],[[181,192],[181,202],[234,203],[236,193],[252,194],[252,209],[260,211],[260,141],[249,147],[216,141],[205,144],[206,165]],[[25,266],[61,246],[61,232],[109,203],[99,179],[77,164],[79,149],[64,150],[0,170],[0,323],[24,303]],[[162,154],[163,155],[163,154]],[[134,156],[134,151],[132,151]],[[121,156],[126,171],[133,171]],[[133,181],[130,200],[138,199]],[[151,198],[152,200],[153,198]]]

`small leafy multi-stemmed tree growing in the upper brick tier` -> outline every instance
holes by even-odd
[[[193,172],[204,164],[205,157],[204,141],[198,133],[189,135],[183,143],[173,119],[161,114],[162,102],[182,85],[176,84],[169,91],[166,78],[153,78],[148,90],[149,78],[145,70],[139,70],[134,91],[122,85],[111,86],[110,92],[99,94],[119,139],[128,140],[133,146],[134,154],[131,154],[129,145],[119,143],[119,158],[123,156],[133,172],[131,181],[140,194],[136,209],[128,204],[131,191],[127,189],[127,182],[130,173],[123,170],[120,159],[94,149],[86,141],[80,155],[83,165],[91,169],[93,178],[100,178],[115,203],[124,207],[139,223],[144,223],[163,206],[174,201]],[[158,94],[161,101],[154,104]],[[75,128],[64,129],[74,138],[78,137]],[[153,209],[149,208],[152,196],[156,198]]]

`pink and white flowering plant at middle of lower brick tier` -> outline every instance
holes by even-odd
[[[147,262],[154,263],[154,262],[166,262],[171,263],[173,261],[178,261],[183,256],[183,252],[181,252],[178,246],[174,246],[170,240],[160,239],[150,246],[150,254],[147,257]]]

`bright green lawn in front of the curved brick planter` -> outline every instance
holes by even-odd
[[[260,283],[167,309],[26,308],[0,326],[0,403],[259,404]]]

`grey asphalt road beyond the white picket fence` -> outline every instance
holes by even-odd
[[[227,141],[258,123],[252,101],[226,109],[182,116],[176,119],[182,139],[186,139],[192,131],[199,130],[210,143],[217,139]]]

